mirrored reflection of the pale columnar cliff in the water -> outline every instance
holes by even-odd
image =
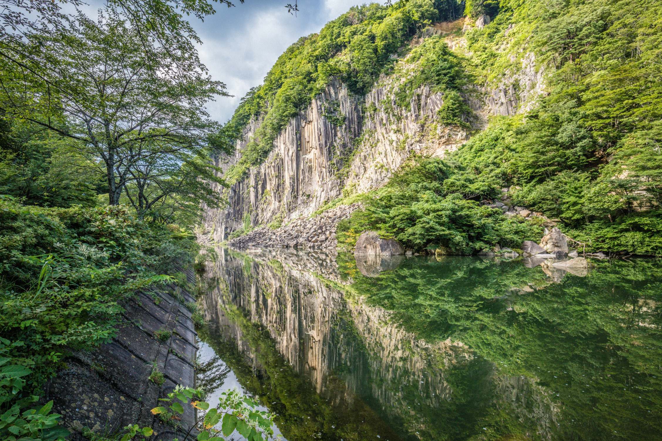
[[[312,385],[323,403],[342,403],[343,421],[336,423],[354,424],[347,409],[367,405],[374,427],[386,430],[386,421],[401,438],[464,438],[461,433],[486,424],[486,415],[505,406],[511,426],[526,421],[532,427],[518,432],[549,434],[555,425],[549,403],[530,380],[498,376],[493,364],[461,342],[422,341],[395,325],[389,311],[346,296],[352,280],[333,259],[281,250],[248,258],[219,249],[219,255],[208,271],[222,282],[203,300],[207,321],[234,342],[261,381],[270,376],[265,387],[292,376],[289,383]],[[265,366],[271,350],[285,366],[271,369],[274,377]],[[289,423],[296,425],[293,418]],[[279,427],[291,437],[283,422]]]

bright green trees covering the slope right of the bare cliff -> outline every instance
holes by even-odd
[[[501,2],[467,34],[465,67],[496,85],[533,51],[549,93],[526,118],[492,120],[451,161],[517,190],[514,204],[561,219],[594,249],[662,255],[659,11],[638,0]]]

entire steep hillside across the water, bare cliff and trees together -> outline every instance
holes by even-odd
[[[661,255],[658,9],[354,7],[291,46],[226,124],[229,204],[205,225],[222,241],[362,202],[339,225],[349,246],[375,229],[412,249],[518,247],[547,216],[591,250]],[[534,214],[485,205],[498,199]]]

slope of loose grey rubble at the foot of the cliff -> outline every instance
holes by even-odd
[[[359,203],[339,206],[326,210],[314,218],[299,218],[277,229],[263,226],[246,235],[231,239],[228,245],[236,248],[297,247],[335,251],[338,245],[336,240],[338,222],[350,218],[352,212],[360,206]]]

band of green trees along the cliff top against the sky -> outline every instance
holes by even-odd
[[[339,77],[352,93],[367,93],[379,74],[393,64],[391,54],[401,50],[416,32],[456,9],[459,5],[454,1],[409,0],[392,6],[371,3],[352,7],[319,34],[300,38],[279,57],[263,85],[242,99],[224,127],[222,136],[236,140],[248,122],[261,120],[239,162],[228,170],[228,180],[242,179],[250,167],[264,161],[280,130],[332,77]],[[331,115],[332,122],[341,125],[342,118],[335,119],[340,118],[335,112]]]

